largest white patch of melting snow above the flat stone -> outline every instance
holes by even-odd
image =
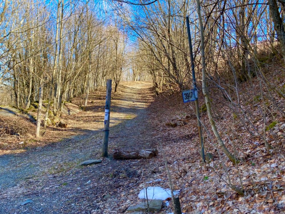
[[[179,192],[179,190],[173,191],[173,194],[177,195]],[[139,198],[146,199],[146,193],[148,199],[152,200],[166,200],[171,197],[170,189],[163,189],[162,187],[147,187],[147,192],[145,188],[140,191]]]

